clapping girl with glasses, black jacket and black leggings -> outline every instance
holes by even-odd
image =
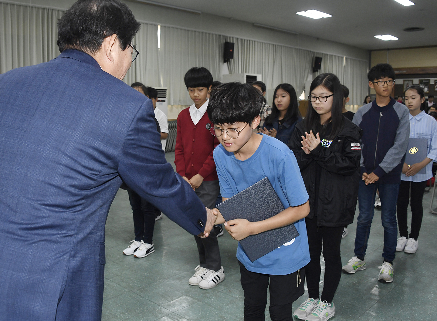
[[[342,115],[343,88],[337,76],[324,73],[311,83],[308,113],[297,124],[290,148],[309,193],[305,217],[311,261],[305,266],[309,298],[295,318],[326,321],[335,314],[333,297],[340,283],[343,228],[354,220],[360,180],[361,129]],[[319,297],[320,254],[326,263]]]

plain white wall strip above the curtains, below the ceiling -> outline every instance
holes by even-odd
[[[10,3],[26,3],[44,7],[66,9],[74,0],[2,0]],[[292,35],[281,31],[254,27],[253,24],[219,17],[212,14],[192,14],[189,12],[153,6],[134,1],[124,1],[139,21],[154,22],[171,25],[179,28],[188,28],[199,31],[218,33],[239,38],[271,42],[279,45],[288,45],[296,48],[309,49],[333,55],[368,60],[368,51],[344,45],[338,42],[327,41],[305,35]]]

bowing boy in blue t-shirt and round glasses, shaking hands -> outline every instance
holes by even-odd
[[[291,223],[299,236],[250,262],[238,245],[244,319],[264,320],[270,279],[271,320],[292,320],[292,303],[304,293],[304,269],[310,261],[304,218],[309,213],[308,194],[293,152],[279,140],[253,129],[260,123],[263,98],[249,84],[225,83],[212,90],[207,112],[212,135],[221,145],[214,161],[223,200],[267,177],[285,210],[264,221],[236,219],[225,222],[218,210],[215,224],[224,223],[232,238],[242,240]],[[256,209],[253,209],[256,211]]]

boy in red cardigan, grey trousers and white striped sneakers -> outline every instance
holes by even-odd
[[[174,163],[177,173],[191,185],[205,207],[213,209],[220,186],[212,157],[218,140],[206,129],[206,125],[211,124],[206,107],[212,75],[204,67],[193,67],[185,74],[184,82],[194,104],[177,116]],[[188,283],[201,289],[211,289],[225,278],[216,232],[213,229],[207,238],[194,236],[194,239],[200,264]]]

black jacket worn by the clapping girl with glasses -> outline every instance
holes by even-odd
[[[288,146],[295,154],[309,194],[308,218],[314,217],[317,200],[317,226],[340,227],[354,221],[360,180],[360,139],[362,130],[346,117],[344,127],[328,147],[319,144],[310,154],[302,150],[303,122],[296,125]],[[316,163],[322,168],[319,195],[315,197]]]

